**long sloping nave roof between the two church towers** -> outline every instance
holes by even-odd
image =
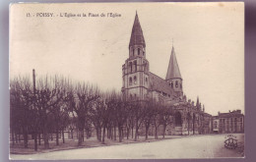
[[[151,72],[149,73],[149,77],[152,90],[161,91],[169,95],[173,94],[173,90],[169,86],[168,82]]]

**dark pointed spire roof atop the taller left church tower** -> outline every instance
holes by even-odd
[[[135,16],[135,20],[132,28],[129,47],[132,45],[143,45],[143,47],[146,47],[142,27],[140,25],[137,12],[136,12],[136,16]]]

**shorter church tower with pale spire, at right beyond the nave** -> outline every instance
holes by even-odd
[[[171,55],[169,59],[169,65],[165,81],[168,82],[169,86],[178,96],[183,95],[182,78],[179,72],[178,63],[173,46],[171,49]]]

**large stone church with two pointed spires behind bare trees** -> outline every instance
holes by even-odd
[[[157,102],[173,106],[173,124],[166,135],[209,134],[212,130],[211,115],[205,113],[199,98],[197,103],[187,101],[183,94],[182,77],[175,50],[172,46],[165,79],[150,72],[143,30],[136,12],[129,43],[129,57],[122,66],[122,95],[126,100]]]

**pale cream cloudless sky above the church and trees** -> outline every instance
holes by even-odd
[[[244,113],[243,3],[12,5],[10,79],[35,69],[37,77],[57,74],[121,90],[136,11],[152,73],[165,79],[173,45],[188,99],[199,96],[212,115]],[[53,17],[42,17],[47,13]]]

